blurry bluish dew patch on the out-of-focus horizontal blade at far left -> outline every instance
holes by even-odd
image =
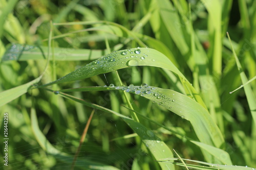
[[[37,48],[36,46],[32,45],[21,45],[13,43],[9,49],[6,51],[5,55],[3,56],[2,60],[17,60],[18,56],[25,51],[31,50],[33,48]]]

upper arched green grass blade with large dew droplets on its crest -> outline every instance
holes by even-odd
[[[204,108],[206,108],[198,92],[173,64],[173,62],[170,61],[165,55],[152,48],[131,48],[104,55],[102,58],[82,66],[54,82],[42,85],[40,87],[86,79],[99,74],[104,74],[106,72],[111,72],[113,70],[132,66],[154,66],[175,72],[182,79],[183,85],[188,90],[187,95],[195,99]]]

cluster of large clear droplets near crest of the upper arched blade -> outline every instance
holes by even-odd
[[[149,50],[147,50],[147,52],[149,52]],[[140,47],[138,47],[136,50],[129,49],[127,51],[126,50],[122,51],[120,52],[120,54],[122,56],[126,56],[125,57],[126,59],[131,58],[131,60],[127,62],[128,66],[137,66],[139,65],[139,61],[143,61],[147,57],[147,54],[145,53],[141,54]]]

